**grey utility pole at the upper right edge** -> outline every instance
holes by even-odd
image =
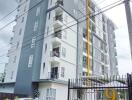
[[[130,8],[130,0],[125,0],[124,2],[125,2],[125,9],[126,9],[126,18],[127,18],[131,58],[132,58],[132,15],[131,15],[131,8]]]

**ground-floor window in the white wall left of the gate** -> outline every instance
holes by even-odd
[[[47,89],[46,100],[56,100],[56,89],[53,88]]]

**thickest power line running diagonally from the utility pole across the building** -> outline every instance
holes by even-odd
[[[97,16],[97,15],[103,13],[103,12],[106,12],[107,10],[110,10],[110,9],[116,7],[116,6],[119,6],[119,5],[123,4],[123,3],[124,3],[124,2],[121,2],[121,3],[117,4],[117,5],[114,5],[114,6],[110,7],[110,8],[108,8],[108,9],[105,9],[105,10],[99,12],[99,13],[96,13],[96,14],[90,16],[90,17],[95,17],[95,16]],[[87,18],[86,18],[86,19],[87,19]],[[62,29],[62,31],[65,30],[65,29],[68,29],[68,28],[70,28],[70,27],[72,27],[72,26],[74,26],[74,25],[77,25],[77,24],[79,24],[79,23],[81,23],[81,22],[84,22],[86,19],[84,19],[84,20],[82,20],[82,21],[80,21],[80,22],[78,22],[78,23],[75,23],[75,24],[73,24],[73,25],[71,25],[71,26],[68,26],[68,27]],[[53,35],[53,34],[54,34],[54,32],[51,33],[50,35],[46,36],[46,37],[40,38],[40,39],[37,40],[36,42],[39,42],[40,40],[43,40],[44,38],[47,38],[47,37],[49,37],[49,36],[51,36],[51,35]],[[26,47],[26,46],[28,46],[28,45],[31,45],[31,44],[30,44],[30,43],[29,43],[29,44],[26,44],[26,45],[22,46],[22,48],[24,48],[24,47]],[[12,51],[12,52],[14,52],[14,51]],[[1,56],[0,56],[0,57],[1,57]]]

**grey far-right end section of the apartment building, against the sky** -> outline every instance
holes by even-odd
[[[115,28],[111,20],[107,20],[107,32],[109,41],[109,59],[110,59],[110,73],[111,76],[119,75],[118,72],[118,61],[117,61],[117,50],[116,50],[116,40],[115,40]]]

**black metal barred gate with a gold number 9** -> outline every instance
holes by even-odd
[[[68,100],[132,100],[132,75],[69,79]]]

